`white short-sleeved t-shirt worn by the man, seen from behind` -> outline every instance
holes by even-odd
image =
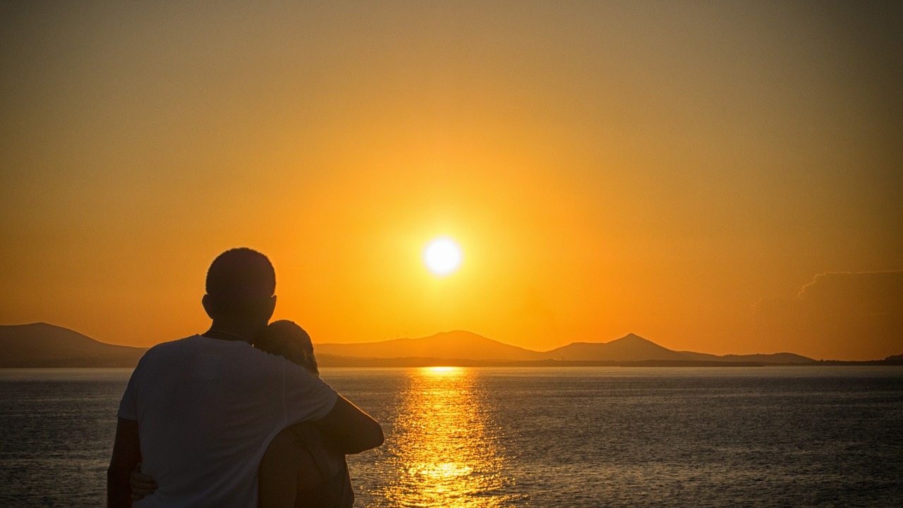
[[[270,440],[321,419],[338,395],[303,368],[243,341],[194,335],[135,367],[119,418],[138,422],[142,466],[159,485],[135,506],[255,508]]]

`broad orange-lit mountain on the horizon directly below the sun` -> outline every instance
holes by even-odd
[[[500,343],[463,330],[442,332],[417,339],[391,339],[377,343],[318,343],[317,355],[358,358],[440,358],[448,360],[526,361],[549,358],[522,347]]]

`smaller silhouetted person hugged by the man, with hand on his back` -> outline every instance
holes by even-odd
[[[291,321],[275,321],[254,346],[284,356],[320,376],[311,336]],[[131,476],[134,501],[156,490],[154,478]],[[348,508],[354,492],[345,456],[310,422],[296,423],[277,434],[266,448],[258,470],[259,508]]]

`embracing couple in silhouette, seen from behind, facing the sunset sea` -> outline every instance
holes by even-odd
[[[108,506],[132,505],[139,463],[158,485],[135,503],[145,508],[304,506],[318,488],[348,488],[337,457],[378,447],[382,428],[305,369],[316,367],[300,327],[267,327],[274,293],[263,254],[231,249],[213,261],[203,298],[210,329],[149,349],[128,382]]]

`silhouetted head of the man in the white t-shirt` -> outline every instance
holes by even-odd
[[[221,322],[266,326],[275,308],[276,276],[265,255],[241,247],[229,249],[207,270],[204,310]]]

